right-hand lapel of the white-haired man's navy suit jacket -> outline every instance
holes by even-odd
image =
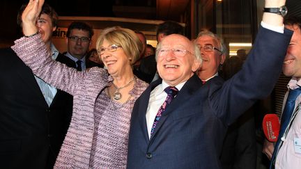
[[[196,90],[198,90],[202,86],[201,80],[199,77],[197,77],[195,74],[192,76],[183,86],[183,88],[178,92],[178,95],[172,100],[171,104],[167,106],[164,113],[162,114],[159,122],[157,123],[157,126],[155,127],[155,131],[153,132],[153,135],[151,137],[151,140],[155,138],[155,135],[158,131],[160,131],[160,128],[162,127],[162,124],[167,120],[169,117],[169,114],[176,110],[183,102],[190,99],[190,97],[194,94]]]

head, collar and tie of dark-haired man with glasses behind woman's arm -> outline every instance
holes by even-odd
[[[67,31],[68,51],[65,56],[70,58],[77,70],[82,71],[86,68],[86,54],[91,45],[91,38],[94,32],[91,26],[85,22],[72,22]]]

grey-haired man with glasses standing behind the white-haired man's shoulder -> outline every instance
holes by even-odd
[[[223,75],[219,74],[219,67],[226,58],[226,45],[222,38],[210,31],[201,31],[195,43],[203,59],[197,75],[203,85],[206,85],[210,79]],[[240,118],[231,124],[226,132],[220,156],[223,169],[256,168],[256,136],[252,110],[249,108],[243,115],[240,115]]]

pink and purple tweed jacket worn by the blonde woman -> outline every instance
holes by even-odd
[[[89,168],[89,165],[91,165],[89,162],[93,145],[93,133],[95,132],[95,100],[98,98],[100,92],[103,92],[102,90],[113,79],[108,76],[107,70],[98,67],[93,67],[84,72],[78,72],[66,65],[52,61],[50,57],[45,57],[49,54],[47,54],[45,44],[39,35],[16,40],[12,49],[20,56],[26,65],[31,67],[34,74],[44,79],[47,83],[52,84],[52,86],[73,95],[72,120],[54,168]],[[137,79],[134,90],[130,92],[130,95],[134,95],[134,99],[132,99],[131,105],[126,107],[128,109],[130,108],[130,110],[128,110],[129,112],[132,111],[134,100],[141,95],[147,86],[146,83]],[[119,111],[123,110],[119,109]],[[119,112],[112,109],[111,113]],[[127,160],[126,154],[128,153],[128,131],[126,130],[128,130],[130,125],[130,113],[128,114],[129,117],[126,119],[128,122],[125,122],[125,124],[127,124],[125,131],[121,133],[121,135],[125,136],[125,144],[121,150],[118,150],[118,154],[122,156],[119,158],[116,152],[109,152],[111,156],[118,156],[119,161],[116,162],[122,165],[92,166],[92,168],[125,168]],[[98,131],[101,130],[99,129]],[[105,141],[122,141],[120,140],[121,138],[115,139],[116,140],[109,138]],[[97,152],[95,152],[95,154],[97,154]]]

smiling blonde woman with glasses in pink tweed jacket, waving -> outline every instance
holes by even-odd
[[[73,95],[72,120],[54,168],[126,168],[132,107],[147,87],[132,72],[141,42],[130,29],[105,29],[96,48],[107,70],[78,72],[47,53],[35,26],[43,2],[29,1],[22,15],[25,37],[13,50],[38,77]]]

